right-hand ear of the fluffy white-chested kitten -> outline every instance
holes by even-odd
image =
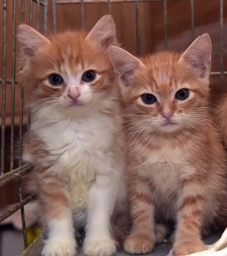
[[[103,16],[91,29],[86,39],[95,39],[103,49],[116,44],[116,29],[111,15]]]

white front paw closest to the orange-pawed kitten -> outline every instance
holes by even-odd
[[[111,256],[116,253],[113,240],[97,240],[85,242],[83,252],[86,256]]]

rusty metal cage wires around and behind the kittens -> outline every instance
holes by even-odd
[[[164,13],[164,43],[165,49],[168,48],[167,41],[167,1],[177,1],[177,0],[28,0],[29,1],[29,25],[33,24],[33,5],[36,4],[37,10],[37,19],[36,19],[36,29],[40,29],[40,24],[43,25],[44,34],[48,30],[48,4],[51,4],[52,11],[52,23],[53,23],[53,32],[57,32],[57,15],[56,15],[56,6],[57,5],[69,5],[69,4],[79,4],[81,11],[81,26],[84,28],[84,5],[87,3],[107,3],[107,11],[111,10],[112,3],[135,3],[135,16],[136,16],[136,54],[139,55],[139,2],[162,2],[163,3],[163,13]],[[179,0],[178,0],[179,1]],[[191,41],[194,38],[194,0],[190,1],[190,17],[191,17]],[[219,72],[211,72],[212,76],[221,76],[221,90],[224,92],[224,76],[227,75],[227,72],[224,71],[224,49],[223,49],[223,1],[220,0],[220,35],[221,35],[221,70]],[[22,226],[23,226],[23,240],[25,249],[28,247],[27,236],[26,236],[26,219],[24,206],[35,198],[34,195],[29,195],[26,198],[23,198],[23,188],[22,188],[22,176],[30,172],[33,166],[29,164],[22,164],[22,131],[23,131],[23,105],[24,105],[24,92],[22,84],[17,84],[15,79],[16,75],[16,15],[20,15],[21,22],[25,21],[25,2],[27,0],[21,0],[21,13],[16,13],[16,5],[18,4],[17,0],[12,0],[12,76],[11,79],[6,77],[6,32],[7,32],[7,0],[3,0],[3,10],[1,10],[3,17],[3,73],[2,78],[0,79],[0,84],[2,84],[2,124],[1,124],[1,156],[0,156],[0,188],[7,186],[11,181],[17,181],[19,186],[19,198],[20,202],[14,207],[5,212],[0,216],[0,222],[4,221],[6,218],[11,216],[17,210],[21,210]],[[40,6],[43,6],[43,20],[40,23]],[[1,15],[0,15],[1,16]],[[34,26],[35,27],[35,26]],[[6,86],[11,84],[11,131],[10,131],[10,166],[9,170],[5,169],[5,137],[6,137]],[[15,86],[20,86],[20,124],[19,124],[19,162],[18,167],[14,169],[14,112],[15,112]],[[28,125],[29,125],[30,115],[28,113]]]

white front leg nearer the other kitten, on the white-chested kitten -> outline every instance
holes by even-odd
[[[97,175],[89,192],[88,223],[83,252],[87,256],[111,256],[116,253],[111,238],[110,218],[115,206],[118,182],[105,175]]]

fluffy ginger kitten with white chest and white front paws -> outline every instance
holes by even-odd
[[[48,37],[20,25],[18,39],[32,113],[23,160],[34,165],[29,187],[47,231],[41,255],[76,255],[75,225],[85,227],[85,255],[110,256],[111,215],[125,207],[119,86],[108,54],[113,19],[102,17],[89,34]]]

